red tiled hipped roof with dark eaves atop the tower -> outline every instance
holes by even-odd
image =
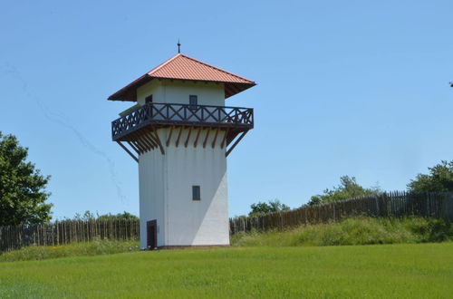
[[[113,93],[109,100],[137,101],[137,88],[155,78],[172,80],[189,80],[202,82],[225,83],[225,98],[243,92],[255,85],[255,82],[226,72],[207,63],[202,63],[187,55],[178,53],[165,63],[161,63],[151,71],[131,82],[120,91]]]

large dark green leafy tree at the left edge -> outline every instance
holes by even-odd
[[[28,149],[13,135],[0,131],[0,226],[37,224],[49,221],[52,204],[45,187],[50,177],[41,175],[26,162]]]

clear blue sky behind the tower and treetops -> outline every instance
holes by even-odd
[[[405,189],[453,159],[451,1],[2,1],[0,130],[52,175],[54,217],[138,214],[138,167],[107,101],[177,51],[258,83],[228,157],[230,216],[299,207],[355,176]]]

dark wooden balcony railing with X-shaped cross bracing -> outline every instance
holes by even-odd
[[[148,103],[111,122],[114,141],[148,125],[252,129],[252,108]]]

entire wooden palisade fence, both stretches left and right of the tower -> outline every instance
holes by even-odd
[[[230,219],[230,234],[339,221],[345,217],[443,218],[453,221],[453,192],[390,192],[317,206],[304,206],[260,217]],[[42,225],[0,227],[0,252],[23,246],[58,246],[96,239],[136,240],[139,220],[64,220]]]

